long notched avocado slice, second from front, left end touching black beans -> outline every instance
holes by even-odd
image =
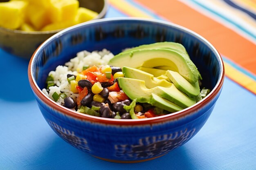
[[[118,83],[119,87],[130,99],[137,99],[137,102],[140,103],[150,103],[152,93],[154,93],[182,108],[187,108],[195,104],[193,97],[188,97],[186,94],[179,91],[174,84],[171,87],[157,86],[149,89],[146,87],[145,81],[126,77],[119,77]]]

